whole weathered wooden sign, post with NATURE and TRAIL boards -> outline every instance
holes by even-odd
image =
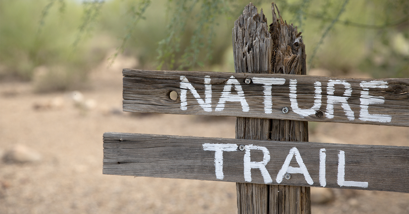
[[[306,141],[307,121],[409,126],[409,79],[306,76],[301,32],[272,15],[236,20],[236,73],[123,70],[125,111],[234,116],[239,139],[105,133],[103,173],[236,182],[240,214],[310,214],[311,186],[408,193],[409,147]]]

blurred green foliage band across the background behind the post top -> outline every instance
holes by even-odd
[[[244,0],[0,0],[0,81],[82,87],[119,54],[138,68],[234,72],[231,29]],[[253,1],[272,22],[271,2]],[[277,0],[308,67],[330,75],[409,76],[409,1]],[[105,62],[106,63],[106,62]]]

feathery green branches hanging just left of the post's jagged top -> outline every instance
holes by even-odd
[[[201,3],[200,12],[195,15],[193,10],[199,2]],[[161,69],[164,64],[169,69],[173,69],[175,64],[179,65],[178,69],[190,69],[196,65],[203,66],[204,63],[200,61],[199,54],[201,50],[206,49],[205,60],[211,59],[211,47],[215,36],[213,27],[217,24],[216,17],[229,11],[226,2],[225,0],[194,0],[189,3],[189,0],[177,0],[175,5],[175,12],[166,27],[168,31],[166,38],[159,42],[157,48],[159,54],[157,69]],[[189,45],[181,53],[180,59],[176,60],[176,55],[181,51],[182,33],[189,19],[197,19],[196,27]]]

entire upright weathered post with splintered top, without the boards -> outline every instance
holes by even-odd
[[[275,14],[270,29],[261,9],[250,3],[233,28],[236,73],[306,74],[306,54],[301,33]],[[270,85],[271,87],[271,85]],[[283,112],[287,106],[281,106]],[[308,142],[306,121],[237,117],[236,138]],[[236,183],[239,214],[309,214],[310,187]]]

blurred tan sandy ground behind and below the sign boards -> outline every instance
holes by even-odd
[[[0,163],[2,214],[237,213],[235,183],[102,174],[104,132],[234,138],[232,117],[123,113],[121,78],[117,68],[94,72],[83,106],[71,92],[35,94],[30,83],[1,83],[1,154],[20,144],[42,157]],[[409,146],[409,129],[313,123],[310,141]],[[312,213],[409,213],[409,194],[333,193]]]

